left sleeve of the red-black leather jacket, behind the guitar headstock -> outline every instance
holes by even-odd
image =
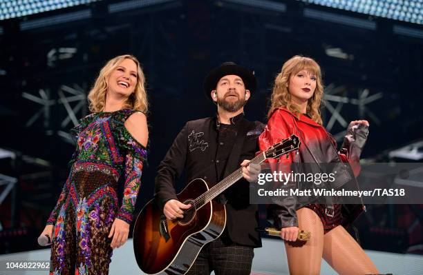
[[[264,132],[259,136],[259,147],[261,151],[267,150],[270,146],[286,139],[292,133],[292,125],[284,118],[280,110],[276,110],[270,117]],[[288,158],[284,155],[279,159],[267,159],[273,171],[285,170],[292,163],[292,154]],[[276,163],[277,162],[277,163]],[[289,171],[287,171],[289,172]],[[289,183],[288,183],[289,184]],[[289,187],[289,186],[288,186]],[[274,221],[274,227],[298,227],[297,198],[288,196],[283,200],[274,201],[274,204],[267,208],[267,218]]]

